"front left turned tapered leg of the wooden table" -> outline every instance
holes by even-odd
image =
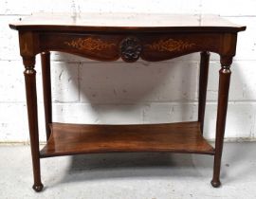
[[[25,65],[25,82],[27,95],[27,116],[30,136],[30,147],[32,154],[33,174],[35,191],[43,190],[40,174],[40,154],[39,154],[39,136],[38,136],[38,118],[37,118],[37,96],[36,96],[36,71],[34,69],[35,57],[23,57]]]

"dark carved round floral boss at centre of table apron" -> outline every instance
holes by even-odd
[[[119,50],[124,62],[134,63],[140,56],[142,46],[136,37],[127,37],[120,42]]]

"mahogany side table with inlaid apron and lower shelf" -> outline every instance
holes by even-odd
[[[171,152],[214,156],[211,185],[220,186],[220,168],[229,98],[230,64],[236,51],[237,26],[213,15],[87,13],[39,14],[10,24],[19,32],[25,65],[27,115],[36,191],[43,190],[40,158],[113,152]],[[201,52],[198,119],[192,122],[96,125],[52,121],[50,51],[98,61],[134,63],[173,59]],[[204,139],[204,115],[210,53],[220,55],[215,148]],[[46,146],[40,151],[35,56],[41,53],[46,117]],[[189,74],[188,74],[189,75]],[[141,82],[143,83],[143,82]]]

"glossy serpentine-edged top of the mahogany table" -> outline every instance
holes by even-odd
[[[147,13],[35,13],[9,27],[17,30],[67,31],[242,31],[217,15]]]

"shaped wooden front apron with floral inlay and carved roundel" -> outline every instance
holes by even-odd
[[[97,61],[122,59],[127,63],[136,62],[139,58],[149,62],[165,61],[200,51],[222,54],[224,37],[232,42],[236,41],[235,34],[216,32],[188,34],[186,31],[172,34],[139,33],[139,31],[133,34],[36,32],[34,36],[40,44],[34,46],[34,54],[42,51],[62,51]],[[233,48],[228,48],[225,53],[232,55],[235,52]],[[128,59],[129,56],[132,59]]]

